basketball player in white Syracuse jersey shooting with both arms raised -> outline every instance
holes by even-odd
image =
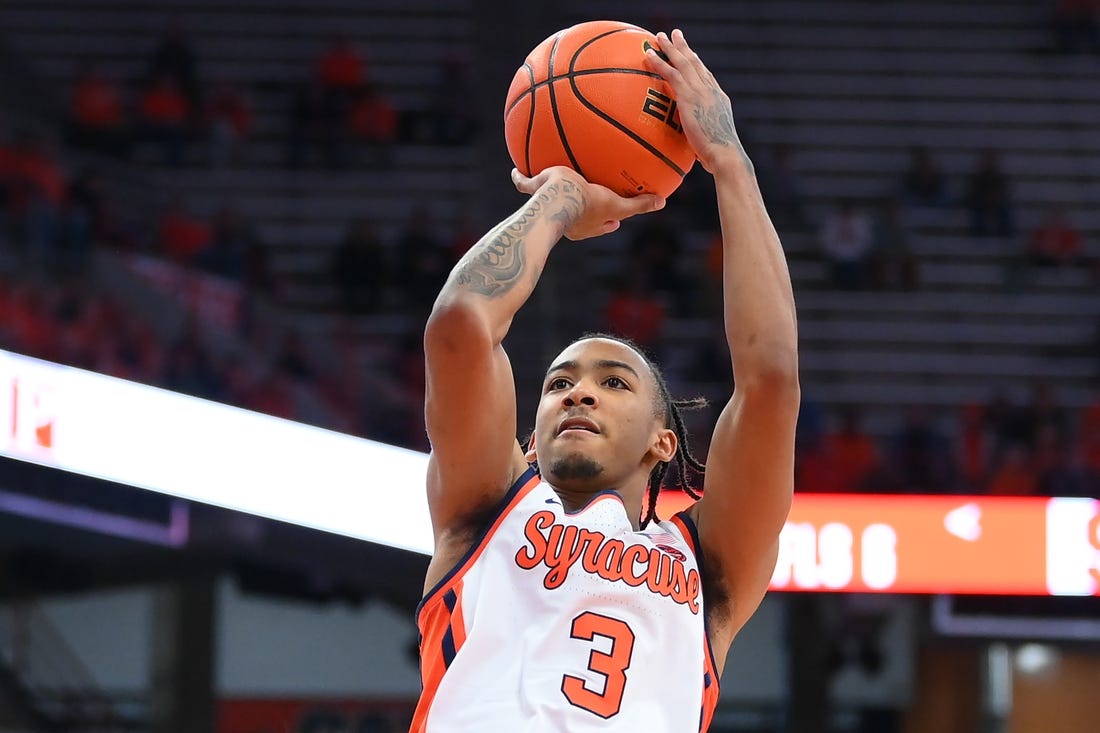
[[[418,612],[417,733],[703,731],[730,642],[760,603],[791,503],[796,326],[783,252],[729,99],[683,34],[659,34],[684,133],[715,179],[736,390],[703,496],[654,517],[664,469],[703,468],[681,403],[630,344],[584,338],[547,370],[516,438],[502,341],[550,251],[659,209],[568,168],[513,172],[528,201],[455,265],[425,332],[435,555]],[[644,512],[645,505],[645,512]]]

